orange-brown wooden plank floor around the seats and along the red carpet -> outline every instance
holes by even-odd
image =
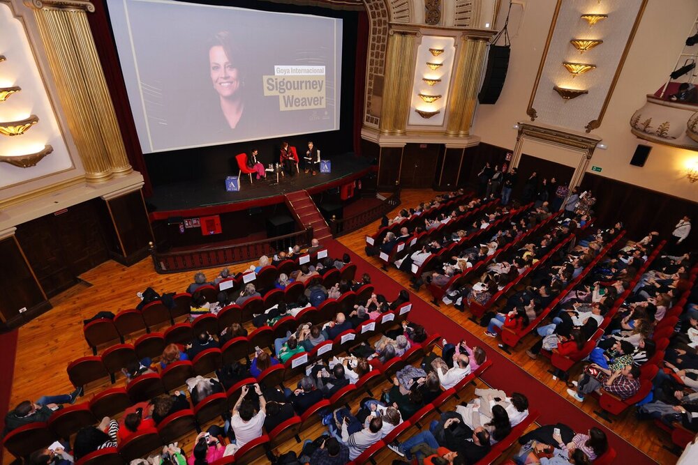
[[[413,206],[419,201],[429,199],[436,195],[430,190],[403,190],[403,206]],[[398,209],[396,208],[396,211]],[[392,213],[393,215],[395,213]],[[364,236],[372,234],[377,229],[377,222],[355,231],[352,234],[339,238],[339,241],[350,247],[357,254],[365,257]],[[376,263],[373,259],[368,259],[371,263]],[[249,264],[239,264],[231,266],[231,270],[236,272],[248,268]],[[212,279],[218,270],[203,270],[207,277]],[[376,267],[375,273],[385,273]],[[407,275],[398,270],[389,270],[388,275],[397,282],[408,286]],[[54,308],[38,317],[31,323],[20,328],[19,342],[17,348],[17,358],[15,376],[13,379],[13,391],[10,399],[10,408],[17,402],[24,399],[35,400],[41,395],[56,395],[70,392],[73,388],[68,381],[66,367],[70,360],[91,354],[87,343],[82,336],[82,320],[92,317],[96,312],[109,310],[118,312],[126,308],[133,308],[138,304],[136,292],[142,291],[150,286],[159,293],[183,291],[192,281],[193,273],[176,273],[171,275],[158,275],[153,269],[150,259],[144,259],[138,264],[126,268],[114,261],[107,261],[105,264],[89,270],[81,276],[86,285],[80,285],[66,291],[64,294],[52,299]],[[418,293],[424,300],[431,300],[431,295],[426,289]],[[442,303],[438,309],[448,317],[461,324],[463,328],[479,337],[482,344],[487,344],[491,350],[500,350],[496,346],[496,340],[484,337],[482,328],[468,320],[468,314],[462,314],[452,306]],[[134,338],[135,339],[135,338]],[[542,383],[558,392],[558,394],[575,406],[579,406],[572,401],[565,393],[566,386],[563,382],[553,381],[547,372],[549,363],[545,360],[530,360],[523,352],[533,340],[524,340],[519,344],[510,357],[514,363],[528,370],[537,376]],[[117,381],[123,383],[123,380]],[[90,392],[98,392],[108,386],[108,381],[103,386],[90,386],[85,398],[89,399]],[[387,386],[387,384],[385,385]],[[374,392],[375,394],[375,392]],[[464,397],[468,399],[468,397]],[[448,405],[446,406],[448,407]],[[593,415],[593,409],[597,407],[595,401],[590,399],[579,406],[585,413]],[[564,419],[560,419],[564,420]],[[603,420],[601,420],[603,421]],[[668,443],[668,436],[662,432],[657,432],[651,422],[639,422],[632,415],[626,415],[614,420],[612,428],[628,442],[639,450],[642,450],[649,457],[660,464],[674,464],[677,457],[662,448],[662,443]],[[302,439],[314,439],[318,437],[324,427],[318,425],[302,432]],[[191,451],[191,435],[182,441],[186,452]],[[295,443],[286,443],[282,449],[294,448]],[[279,450],[283,452],[283,450]],[[385,451],[378,456],[378,463],[389,463],[396,456],[392,452]],[[11,457],[5,454],[3,464],[9,464]],[[260,464],[267,463],[267,459],[260,459]],[[618,463],[623,463],[623,457],[619,457]]]

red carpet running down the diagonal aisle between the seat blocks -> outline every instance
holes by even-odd
[[[369,273],[373,286],[378,292],[384,294],[388,300],[395,298],[401,289],[405,289],[383,273],[383,271],[373,266],[369,261],[359,257],[341,243],[325,241],[325,245],[327,245],[332,257],[341,257],[345,252],[350,254],[352,262],[357,265],[357,276],[360,277],[363,273]],[[473,335],[412,292],[410,292],[410,302],[413,303],[409,317],[410,321],[421,324],[426,328],[427,332],[439,333],[450,341],[465,339],[470,346],[480,344],[480,335]],[[480,344],[480,346],[486,347],[484,344]],[[574,401],[568,401],[560,397],[557,392],[545,386],[505,356],[494,350],[487,351],[487,356],[492,360],[493,364],[483,374],[482,380],[494,388],[507,392],[515,390],[526,395],[530,408],[540,411],[540,417],[537,420],[539,425],[563,422],[570,425],[574,431],[584,433],[591,427],[599,427],[606,432],[609,444],[618,453],[617,463],[632,463],[635,465],[655,463],[650,457],[634,448],[633,445],[609,428],[578,409],[577,406],[571,403]],[[587,402],[595,401],[588,399]]]

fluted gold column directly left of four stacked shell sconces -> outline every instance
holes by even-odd
[[[416,32],[389,32],[380,132],[394,134],[405,132],[412,96],[416,37]]]

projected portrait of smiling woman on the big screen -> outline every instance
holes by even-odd
[[[245,109],[243,76],[237,47],[228,32],[219,32],[209,47],[211,82],[221,100],[221,110],[231,129],[239,128]]]

